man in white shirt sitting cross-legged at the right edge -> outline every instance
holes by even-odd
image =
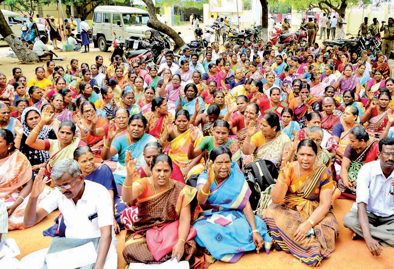
[[[379,141],[378,157],[358,172],[356,202],[343,217],[343,225],[354,233],[353,239],[363,237],[375,257],[382,255],[380,245],[394,246],[394,138]]]

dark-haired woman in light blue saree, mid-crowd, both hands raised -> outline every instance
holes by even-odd
[[[180,109],[186,109],[189,112],[189,115],[193,117],[196,112],[196,107],[198,105],[199,110],[198,114],[202,114],[205,111],[204,100],[200,96],[197,96],[198,90],[197,86],[194,83],[189,83],[185,86],[185,96],[182,93],[179,94],[179,100],[177,102],[176,112]]]

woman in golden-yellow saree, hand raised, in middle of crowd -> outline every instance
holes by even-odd
[[[198,106],[196,106],[196,110]],[[185,180],[193,174],[202,173],[202,171],[205,169],[202,154],[192,160],[188,159],[187,147],[189,146],[191,140],[189,121],[189,112],[184,109],[179,110],[175,115],[175,126],[170,122],[167,123],[167,132],[163,135],[162,139],[163,141],[168,141],[168,156],[170,156],[174,164],[176,164],[181,169],[182,176]],[[202,132],[199,129],[197,129],[197,133],[198,135],[195,146],[203,138]],[[167,143],[164,143],[163,146],[166,147],[166,144]]]

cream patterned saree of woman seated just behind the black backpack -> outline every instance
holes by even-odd
[[[273,139],[272,141],[264,143],[262,146],[257,148],[253,153],[253,160],[258,161],[263,159],[268,159],[275,164],[280,164],[282,162],[282,153],[284,149],[284,145],[290,142],[289,136],[280,132],[279,135]]]

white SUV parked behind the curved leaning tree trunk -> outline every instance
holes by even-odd
[[[102,52],[108,51],[115,39],[114,32],[122,44],[130,37],[148,39],[152,33],[146,25],[148,20],[149,13],[143,9],[119,5],[97,6],[92,23],[94,47]]]

